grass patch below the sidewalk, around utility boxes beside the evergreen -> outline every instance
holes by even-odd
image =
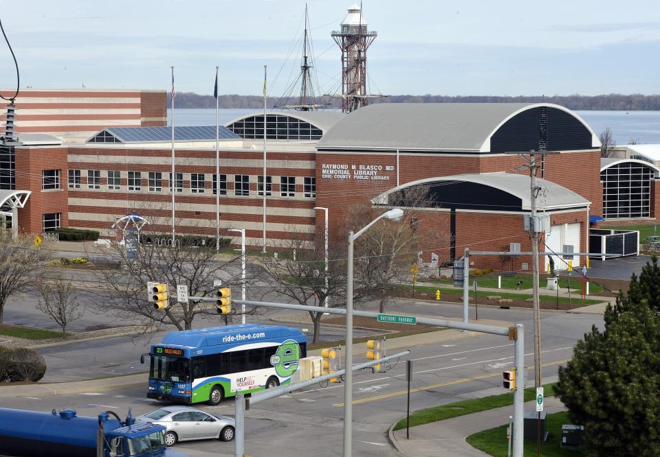
[[[580,457],[581,452],[562,449],[560,447],[562,439],[562,425],[571,423],[567,412],[558,412],[548,414],[546,427],[549,432],[548,441],[541,443],[540,455],[543,457]],[[470,435],[465,441],[486,454],[497,457],[507,457],[507,425],[501,425],[490,430],[484,430]],[[526,456],[536,456],[536,441],[523,440],[525,443],[524,454]]]

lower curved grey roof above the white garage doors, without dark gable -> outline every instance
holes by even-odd
[[[442,176],[439,178],[425,178],[416,181],[411,181],[399,187],[393,187],[388,191],[383,192],[371,200],[373,204],[388,204],[388,196],[395,192],[406,189],[408,187],[415,187],[419,185],[433,185],[434,183],[451,183],[452,181],[476,183],[488,187],[500,189],[507,194],[511,194],[520,198],[522,202],[522,209],[531,209],[531,195],[529,191],[529,176],[524,174],[514,173],[481,173],[481,174],[454,174],[452,176]],[[538,178],[537,185],[544,189],[542,195],[536,198],[537,209],[540,211],[562,208],[586,207],[591,204],[590,201],[566,187],[560,186],[549,180]],[[478,196],[474,196],[478,199]]]

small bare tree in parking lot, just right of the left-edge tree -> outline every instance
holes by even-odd
[[[39,290],[39,311],[50,316],[62,329],[62,338],[67,338],[67,325],[83,317],[85,306],[78,303],[76,288],[71,279],[57,274],[50,281],[37,285]]]

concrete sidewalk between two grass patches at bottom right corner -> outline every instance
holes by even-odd
[[[525,403],[525,410],[533,410],[534,401]],[[558,398],[547,397],[544,400],[544,409],[548,414],[566,410]],[[513,414],[514,406],[504,406],[465,416],[445,419],[444,421],[427,423],[410,427],[410,439],[406,439],[406,429],[393,432],[390,430],[389,438],[402,456],[406,457],[481,457],[487,456],[484,452],[474,449],[465,442],[465,438],[476,432],[489,430],[508,423],[509,416]],[[559,439],[551,436],[549,439]],[[506,440],[506,436],[502,436]]]

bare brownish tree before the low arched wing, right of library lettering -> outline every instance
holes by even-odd
[[[392,292],[410,279],[410,268],[417,265],[419,246],[443,243],[437,231],[420,231],[419,209],[432,207],[426,187],[411,187],[391,195],[389,207],[404,209],[399,222],[381,220],[364,232],[355,242],[355,277],[358,287],[369,290],[385,311]],[[351,220],[360,229],[375,219],[383,209],[355,208]],[[447,240],[445,240],[446,242]]]

